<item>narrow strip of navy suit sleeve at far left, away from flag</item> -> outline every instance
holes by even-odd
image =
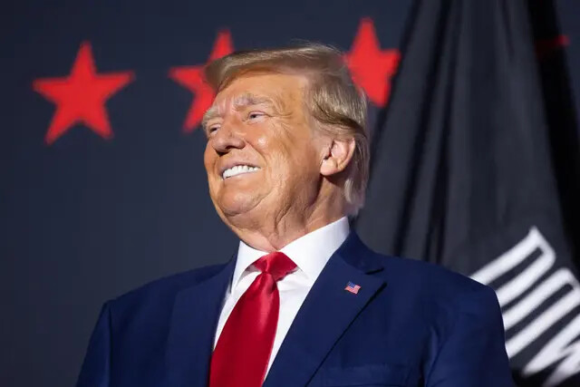
[[[109,387],[111,377],[111,305],[105,303],[92,332],[77,387]]]

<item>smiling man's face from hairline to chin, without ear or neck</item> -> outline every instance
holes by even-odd
[[[208,110],[209,195],[227,223],[248,214],[280,219],[316,198],[322,142],[304,108],[306,83],[299,75],[247,74]]]

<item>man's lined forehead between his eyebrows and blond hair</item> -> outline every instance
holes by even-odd
[[[218,92],[212,105],[223,112],[256,104],[292,105],[303,101],[306,78],[286,73],[250,73],[237,77]],[[278,106],[281,107],[281,106]]]

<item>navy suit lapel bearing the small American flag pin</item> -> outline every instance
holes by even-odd
[[[286,334],[264,386],[305,385],[334,343],[380,291],[384,282],[372,272],[382,270],[372,253],[352,233],[329,259]],[[344,290],[360,285],[358,294]]]

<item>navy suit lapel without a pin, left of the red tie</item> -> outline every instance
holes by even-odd
[[[216,276],[182,290],[176,297],[169,327],[164,385],[208,385],[216,326],[235,264],[232,259]]]

